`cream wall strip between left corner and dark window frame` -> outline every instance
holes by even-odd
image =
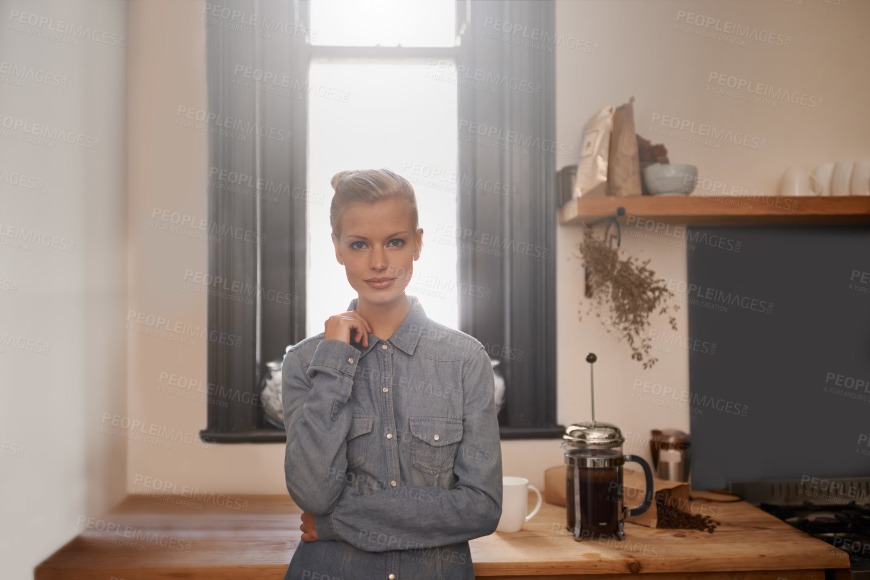
[[[157,230],[151,225],[171,223],[151,216],[157,209],[208,218],[207,134],[173,124],[179,105],[208,109],[203,8],[199,1],[130,4],[128,307],[136,316],[164,317],[194,330],[206,328],[206,297],[182,284],[186,270],[208,271],[206,241]],[[146,431],[153,426],[182,433],[175,441],[157,438],[169,448],[131,441],[130,492],[152,492],[145,478],[153,477],[177,485],[178,492],[190,485],[201,492],[286,493],[282,444],[203,446],[196,436],[205,427],[207,392],[179,389],[197,397],[184,398],[158,390],[160,373],[206,383],[205,338],[192,338],[195,345],[137,331],[127,338],[131,419],[147,425]]]

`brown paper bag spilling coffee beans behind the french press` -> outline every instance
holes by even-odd
[[[567,465],[558,465],[544,471],[544,501],[566,507]],[[622,469],[622,502],[626,507],[636,508],[644,501],[646,478],[643,470]],[[657,527],[659,510],[691,513],[689,508],[689,484],[672,482],[653,476],[655,497],[649,510],[635,517],[626,517],[626,522]],[[658,506],[658,509],[657,509]]]

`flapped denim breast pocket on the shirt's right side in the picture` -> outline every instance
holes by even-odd
[[[450,470],[462,440],[462,420],[449,417],[409,417],[411,464],[429,475]]]

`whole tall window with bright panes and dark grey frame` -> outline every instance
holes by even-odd
[[[330,180],[372,167],[396,170],[417,193],[424,250],[408,293],[501,363],[502,437],[560,437],[554,155],[493,146],[476,129],[553,143],[552,50],[492,33],[496,21],[552,31],[552,3],[225,3],[257,13],[262,30],[208,26],[209,109],[259,130],[250,141],[211,131],[211,175],[244,176],[250,188],[211,180],[209,218],[256,231],[262,243],[209,246],[213,279],[258,292],[247,302],[209,295],[210,332],[241,340],[209,344],[201,437],[284,441],[264,413],[268,363],[353,297],[330,239]],[[538,90],[518,90],[529,86]]]

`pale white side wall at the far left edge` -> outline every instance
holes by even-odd
[[[19,23],[16,10],[37,15],[36,24]],[[127,442],[100,432],[103,414],[124,414],[127,400],[126,15],[120,2],[0,1],[3,578],[32,578],[83,530],[79,517],[98,516],[126,491]],[[58,21],[116,36],[76,45],[32,34],[50,34]],[[30,80],[45,73],[48,83]],[[100,142],[26,143],[5,132],[17,120]],[[12,131],[28,137],[24,130]],[[25,186],[15,184],[21,175]],[[35,230],[46,245],[17,247],[10,228]]]

